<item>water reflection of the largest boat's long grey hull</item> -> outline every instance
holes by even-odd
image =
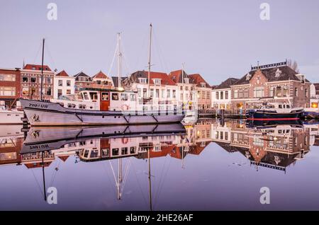
[[[23,143],[21,154],[59,149],[62,145],[93,137],[148,137],[185,132],[181,123],[103,127],[31,127]]]

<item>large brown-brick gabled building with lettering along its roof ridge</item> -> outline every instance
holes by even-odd
[[[262,103],[291,103],[308,108],[310,82],[286,62],[252,67],[251,71],[230,86],[232,108],[259,108]]]

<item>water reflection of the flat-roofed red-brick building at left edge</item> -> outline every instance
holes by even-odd
[[[20,164],[23,137],[0,137],[0,165]]]

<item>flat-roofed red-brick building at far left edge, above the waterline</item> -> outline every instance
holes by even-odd
[[[21,95],[21,71],[16,69],[0,69],[0,105],[11,107]]]

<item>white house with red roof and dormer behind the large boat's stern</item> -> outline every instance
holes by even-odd
[[[123,87],[131,91],[138,92],[139,103],[142,104],[148,97],[152,100],[145,105],[145,110],[173,110],[178,107],[177,85],[169,76],[162,72],[150,72],[150,82],[148,82],[148,71],[136,71],[123,80]],[[150,83],[150,86],[148,85]],[[159,105],[159,108],[157,108]]]

